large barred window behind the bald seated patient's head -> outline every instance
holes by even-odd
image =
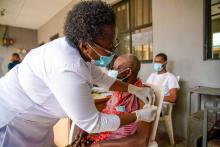
[[[153,33],[151,0],[124,0],[113,6],[120,40],[117,54],[135,54],[152,62]]]

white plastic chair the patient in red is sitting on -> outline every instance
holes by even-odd
[[[163,91],[163,88],[160,86],[151,85],[151,84],[149,86],[151,86],[151,88],[153,88],[155,91],[155,94],[156,94],[156,104],[155,105],[158,107],[158,109],[157,109],[157,115],[156,115],[155,121],[153,123],[153,128],[151,131],[151,136],[150,136],[148,147],[158,147],[158,144],[155,141],[155,138],[156,138],[157,127],[158,127],[158,123],[159,123],[159,119],[160,119],[160,113],[161,113],[161,109],[162,109],[164,91]],[[69,144],[71,144],[73,142],[73,140],[75,139],[75,137],[77,136],[79,131],[80,131],[80,128],[77,125],[75,125],[74,122],[72,122],[70,134],[69,134],[69,141],[68,141]]]

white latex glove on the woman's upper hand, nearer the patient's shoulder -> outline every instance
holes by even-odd
[[[150,87],[137,87],[132,84],[128,85],[128,92],[136,95],[145,104],[154,105],[155,103],[155,93]]]

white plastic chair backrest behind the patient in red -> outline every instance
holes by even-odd
[[[153,88],[153,90],[155,91],[155,95],[156,95],[156,104],[155,105],[158,107],[157,115],[156,115],[155,121],[153,123],[153,128],[152,128],[151,136],[150,136],[150,140],[149,140],[149,142],[153,142],[153,141],[155,141],[155,138],[156,138],[158,123],[160,120],[160,113],[161,113],[163,99],[164,99],[164,89],[163,89],[163,87],[161,87],[159,85],[149,84],[149,86],[151,86],[151,88]]]

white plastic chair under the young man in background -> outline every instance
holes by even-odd
[[[177,81],[180,81],[180,76],[177,76]],[[168,106],[167,112],[165,114],[163,114],[160,117],[160,121],[164,121],[169,139],[170,139],[170,143],[171,145],[175,144],[174,141],[174,133],[173,133],[173,119],[172,119],[172,112],[173,112],[173,106],[175,105],[175,103],[170,103],[170,102],[163,102],[163,104]]]

